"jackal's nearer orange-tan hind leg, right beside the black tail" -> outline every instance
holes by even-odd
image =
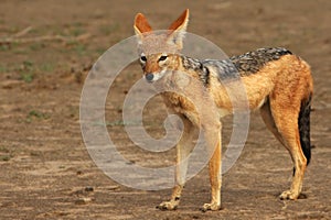
[[[270,99],[270,114],[274,121],[274,134],[289,151],[295,166],[295,175],[289,190],[280,195],[281,199],[297,199],[301,193],[307,158],[300,145],[298,116],[300,106],[286,105],[285,99]],[[299,106],[299,107],[298,107]],[[264,120],[268,117],[264,116]],[[271,130],[273,131],[273,130]],[[277,132],[276,132],[277,131]]]

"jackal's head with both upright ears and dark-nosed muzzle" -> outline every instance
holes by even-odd
[[[134,28],[138,37],[139,62],[147,81],[156,81],[167,72],[177,69],[188,23],[189,9],[167,31],[153,32],[143,14],[136,15]]]

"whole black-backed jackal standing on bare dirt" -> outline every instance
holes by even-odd
[[[166,105],[181,117],[184,131],[177,145],[177,163],[191,152],[196,130],[202,129],[211,152],[209,162],[212,199],[202,207],[203,211],[221,208],[221,121],[224,112],[232,112],[232,102],[227,96],[223,78],[239,77],[249,102],[249,109],[260,109],[263,120],[279,142],[289,151],[293,162],[293,179],[289,190],[280,195],[281,199],[297,199],[301,193],[306,167],[310,161],[310,102],[312,77],[309,65],[286,48],[259,48],[224,61],[199,61],[180,54],[182,41],[189,22],[185,10],[168,29],[166,34],[153,34],[146,16],[138,13],[135,19],[135,32],[138,37],[138,52],[143,76],[149,82],[162,82],[166,86],[180,84],[180,74],[185,73],[197,82],[185,86],[186,91],[194,90],[194,101],[203,106],[205,116],[200,116],[195,103],[174,92],[163,92]],[[237,72],[233,72],[231,66]],[[237,74],[234,74],[237,73]],[[170,76],[170,77],[167,77]],[[178,80],[178,81],[177,81]],[[200,92],[201,91],[201,92]],[[220,111],[210,108],[206,92]],[[209,141],[215,140],[215,141]],[[171,199],[158,206],[159,209],[175,209],[180,202],[185,182],[188,164],[177,167],[175,183]]]

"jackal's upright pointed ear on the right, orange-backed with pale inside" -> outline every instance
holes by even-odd
[[[178,45],[178,48],[183,47],[183,38],[189,24],[189,9],[186,9],[170,26],[169,41]]]

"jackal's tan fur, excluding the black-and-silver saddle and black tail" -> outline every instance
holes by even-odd
[[[189,10],[185,10],[170,25],[169,33],[166,35],[143,35],[151,29],[147,19],[142,14],[138,14],[135,22],[135,30],[139,37],[138,51],[147,59],[142,62],[146,77],[150,74],[156,77],[167,70],[167,76],[159,81],[166,88],[175,87],[177,90],[181,91],[180,95],[169,91],[162,94],[168,108],[179,114],[184,122],[184,132],[177,146],[178,164],[181,164],[183,158],[190,154],[194,136],[196,138],[199,129],[203,129],[206,148],[211,155],[209,168],[212,199],[210,204],[203,206],[202,210],[218,210],[221,208],[222,167],[222,124],[218,119],[233,111],[234,102],[241,106],[245,97],[241,97],[243,95],[239,94],[235,100],[231,99],[227,91],[228,89],[235,91],[237,84],[235,81],[221,84],[217,78],[217,70],[213,67],[209,69],[207,87],[204,87],[199,80],[199,73],[185,69],[178,52],[182,48],[182,32],[185,31],[188,20]],[[173,44],[169,42],[173,42]],[[167,59],[160,61],[164,53]],[[186,75],[174,74],[174,72]],[[290,152],[297,169],[290,189],[282,193],[280,198],[297,199],[302,188],[307,164],[300,147],[298,114],[302,100],[309,99],[312,94],[310,67],[296,55],[284,55],[277,61],[268,62],[257,73],[242,76],[241,81],[247,94],[249,109],[260,109],[267,128]],[[201,111],[202,109],[203,111]],[[171,199],[160,204],[160,209],[175,209],[178,207],[185,183],[186,168],[188,164],[178,166],[177,185],[173,188]]]

